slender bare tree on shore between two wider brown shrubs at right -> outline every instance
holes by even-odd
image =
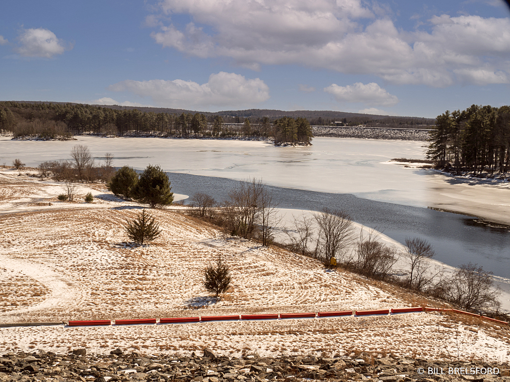
[[[427,275],[430,259],[435,255],[430,243],[419,237],[405,238],[405,260],[411,267],[409,280],[407,284],[409,287],[422,290],[428,286],[433,276]]]

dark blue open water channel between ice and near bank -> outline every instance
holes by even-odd
[[[172,192],[192,196],[202,192],[217,201],[239,181],[182,173],[167,173]],[[427,208],[377,202],[351,194],[322,193],[268,186],[280,208],[347,211],[352,220],[404,243],[406,237],[428,240],[436,260],[458,267],[469,262],[483,266],[495,276],[510,279],[510,231],[477,223],[475,217]],[[186,201],[185,201],[186,203]]]

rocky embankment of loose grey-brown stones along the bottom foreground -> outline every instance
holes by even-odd
[[[454,368],[458,368],[459,372],[450,373],[455,370]],[[475,373],[472,373],[473,371]],[[493,374],[495,371],[497,373]],[[50,380],[57,382],[64,380],[266,382],[303,379],[373,380],[376,382],[510,381],[507,365],[482,362],[431,363],[425,360],[398,359],[391,355],[384,358],[380,356],[379,358],[317,358],[315,356],[264,358],[257,355],[228,358],[216,357],[210,349],[206,348],[201,357],[192,353],[190,357],[180,358],[154,354],[143,356],[138,352],[124,354],[120,349],[104,355],[87,354],[85,349],[75,349],[69,354],[36,350],[30,354],[10,352],[0,357],[0,381],[2,382]]]

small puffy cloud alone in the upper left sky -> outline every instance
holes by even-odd
[[[65,42],[58,39],[55,33],[47,29],[25,29],[17,38],[19,46],[14,50],[24,57],[51,58],[56,54],[62,54],[72,46],[65,46]]]

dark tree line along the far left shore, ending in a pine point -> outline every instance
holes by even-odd
[[[226,118],[226,117],[225,117]],[[284,122],[285,121],[285,122]],[[0,102],[0,132],[15,137],[42,139],[72,135],[147,135],[161,137],[278,137],[290,143],[310,144],[313,137],[306,119],[244,118],[242,123],[201,113],[154,113],[116,110],[87,104]],[[279,140],[281,142],[281,140]]]

